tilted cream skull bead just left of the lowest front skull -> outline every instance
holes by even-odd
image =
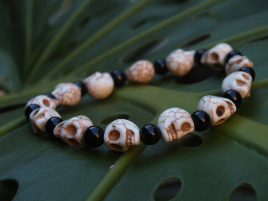
[[[84,130],[90,126],[93,126],[90,119],[85,116],[77,116],[59,123],[53,134],[70,146],[83,145]]]

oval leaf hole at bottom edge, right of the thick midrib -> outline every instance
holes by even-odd
[[[155,201],[170,200],[180,192],[182,182],[179,178],[169,178],[161,182],[154,192]]]

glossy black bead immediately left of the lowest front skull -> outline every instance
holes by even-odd
[[[89,147],[100,147],[104,143],[104,130],[98,126],[88,127],[84,131],[84,142]]]

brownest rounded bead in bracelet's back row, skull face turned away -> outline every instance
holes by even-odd
[[[127,80],[146,84],[154,76],[154,67],[150,61],[140,60],[126,69]]]

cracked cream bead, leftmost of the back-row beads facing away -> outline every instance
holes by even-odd
[[[73,83],[60,83],[55,86],[51,92],[59,101],[60,105],[77,105],[81,98],[80,88]]]

